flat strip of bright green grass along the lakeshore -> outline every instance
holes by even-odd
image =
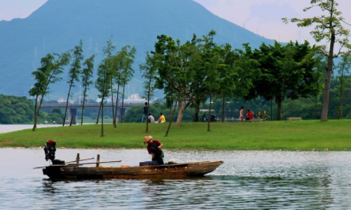
[[[51,127],[0,134],[0,147],[43,147],[47,139],[66,148],[143,148],[144,136],[154,136],[165,149],[177,150],[289,150],[289,151],[350,151],[351,120],[302,120],[290,122],[246,123],[168,123],[105,124],[105,136],[100,137],[101,125]]]

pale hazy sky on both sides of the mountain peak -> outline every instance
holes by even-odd
[[[0,20],[28,17],[47,0],[0,0]],[[117,0],[118,1],[118,0]],[[167,0],[164,0],[167,1]],[[309,30],[294,24],[283,24],[282,17],[311,17],[322,14],[318,8],[303,12],[310,0],[193,0],[202,4],[215,15],[234,24],[258,33],[265,38],[287,42],[290,40],[309,40],[313,42]],[[351,1],[338,0],[338,9],[351,23]],[[351,27],[348,27],[350,29]]]

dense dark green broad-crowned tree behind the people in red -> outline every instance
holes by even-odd
[[[253,80],[248,99],[262,96],[267,100],[276,99],[278,120],[281,120],[281,105],[286,98],[309,97],[316,92],[314,77],[314,49],[308,42],[281,45],[261,45],[253,51],[252,58],[260,63],[260,76]]]

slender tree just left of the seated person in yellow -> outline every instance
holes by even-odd
[[[156,55],[154,55],[156,56]],[[153,59],[147,52],[147,58],[145,62],[140,64],[140,72],[142,72],[142,78],[144,81],[144,95],[147,97],[147,117],[149,117],[150,97],[154,96],[155,82],[156,82],[156,71],[157,71],[157,59]],[[147,128],[145,132],[149,132],[149,120],[147,120]]]

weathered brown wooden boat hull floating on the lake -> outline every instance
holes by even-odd
[[[80,166],[80,164],[64,164],[46,166],[43,168],[43,174],[50,177],[50,179],[174,179],[182,177],[201,177],[216,170],[221,164],[223,164],[223,161],[144,166],[122,165],[121,167],[106,167],[103,165],[83,167]]]

